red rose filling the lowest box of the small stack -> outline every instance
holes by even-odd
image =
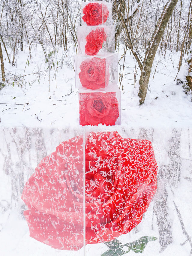
[[[79,93],[80,125],[115,125],[119,104],[115,92]]]

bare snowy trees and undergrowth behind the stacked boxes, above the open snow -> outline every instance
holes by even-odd
[[[156,51],[161,56],[175,51],[180,53],[176,67],[178,71],[182,65],[189,65],[187,80],[179,80],[178,83],[182,83],[185,92],[190,93],[192,2],[113,0],[111,3],[116,26],[116,52],[121,50],[123,53],[119,56],[119,61],[123,60],[119,66],[119,87],[123,90],[123,80],[128,74],[124,65],[128,52],[132,53],[137,61],[132,84],[135,85],[136,76],[141,75],[139,96],[142,98],[143,93],[146,95]],[[41,46],[43,51],[42,62],[47,63],[46,70],[42,70],[39,64],[31,83],[36,79],[39,81],[40,77],[51,69],[56,72],[63,66],[64,57],[71,56],[69,50],[77,54],[77,26],[81,25],[80,1],[5,0],[1,1],[0,10],[1,87],[6,82],[12,83],[13,86],[14,83],[21,86],[25,83],[28,74],[12,74],[9,65],[16,65],[19,53],[26,47],[29,48],[29,55],[23,59],[26,65],[30,65],[34,54],[32,51],[37,49],[37,46]],[[62,55],[58,59],[55,56],[61,49]],[[67,65],[74,69],[73,55],[68,59]],[[140,100],[140,104],[143,104],[144,100],[145,96]]]

